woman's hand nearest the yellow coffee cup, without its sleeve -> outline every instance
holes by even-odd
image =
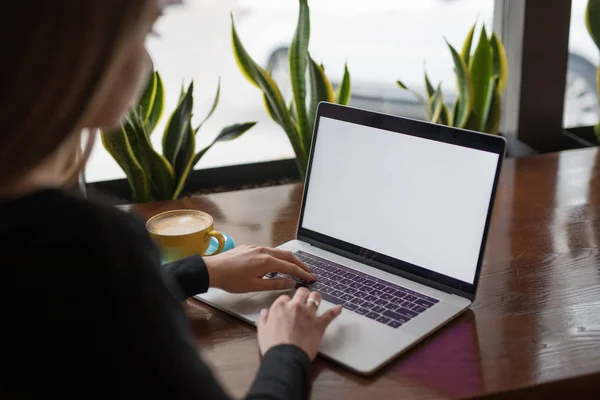
[[[263,279],[269,272],[314,281],[310,269],[289,251],[257,246],[239,246],[204,259],[210,286],[230,293],[291,289],[295,283],[285,278]]]

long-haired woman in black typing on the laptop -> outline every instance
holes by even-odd
[[[198,357],[180,301],[209,284],[283,289],[313,279],[290,253],[244,246],[162,269],[144,226],[70,195],[91,145],[118,126],[149,73],[158,0],[10,2],[0,13],[2,398],[227,395]],[[77,162],[76,162],[77,161]],[[248,398],[308,395],[310,362],[341,309],[321,317],[305,289],[263,310],[263,356]]]

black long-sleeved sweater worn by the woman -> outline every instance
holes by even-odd
[[[141,221],[51,189],[0,202],[0,246],[0,398],[229,398],[181,304],[202,258],[161,266]],[[309,372],[274,347],[247,398],[306,398]]]

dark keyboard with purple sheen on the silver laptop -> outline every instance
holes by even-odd
[[[345,309],[391,328],[399,328],[417,315],[433,307],[439,300],[371,275],[344,267],[303,251],[296,256],[308,265],[317,277],[315,282],[287,276],[311,291],[318,291],[323,300],[341,304]],[[279,275],[270,274],[269,277]]]

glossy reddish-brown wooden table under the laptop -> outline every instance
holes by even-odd
[[[472,311],[371,378],[318,359],[314,399],[600,398],[600,152],[507,160]],[[294,237],[300,185],[137,205],[196,208],[238,244]],[[196,340],[229,392],[258,367],[255,329],[195,300]]]

